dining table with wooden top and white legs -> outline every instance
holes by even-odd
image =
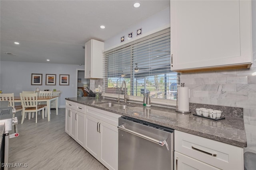
[[[37,101],[38,102],[46,102],[47,107],[47,118],[48,121],[50,121],[50,114],[51,114],[51,101],[55,100],[55,106],[56,106],[56,115],[58,115],[58,97],[59,96],[38,96]],[[20,96],[14,96],[14,102],[21,102]]]

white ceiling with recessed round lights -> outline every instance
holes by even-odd
[[[169,0],[140,0],[140,8],[134,8],[134,2],[0,0],[0,60],[84,64],[88,40],[105,41],[170,5]]]

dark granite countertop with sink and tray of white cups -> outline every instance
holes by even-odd
[[[214,121],[194,116],[192,113],[177,113],[173,107],[144,107],[142,104],[133,104],[130,103],[130,101],[125,105],[133,107],[115,109],[114,107],[100,107],[98,104],[106,102],[118,103],[116,100],[88,97],[66,98],[66,100],[110,111],[119,115],[134,117],[237,147],[247,147],[243,119],[226,117],[226,119]],[[120,104],[124,103],[120,102]]]

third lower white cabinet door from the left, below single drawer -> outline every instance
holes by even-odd
[[[76,112],[76,142],[85,147],[85,114]]]

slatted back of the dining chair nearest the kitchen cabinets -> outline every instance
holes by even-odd
[[[37,94],[36,93],[20,93],[20,101],[22,107],[36,107],[37,108]]]

